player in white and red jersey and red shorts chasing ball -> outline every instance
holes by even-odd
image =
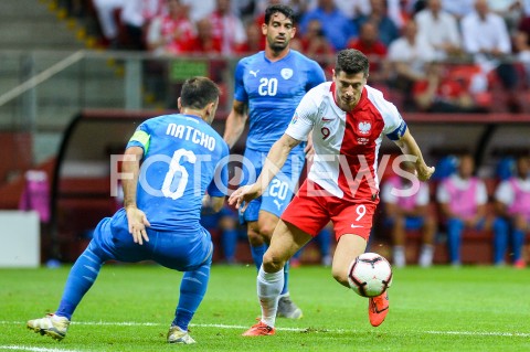
[[[410,134],[395,106],[381,92],[367,85],[368,57],[357,50],[338,53],[332,82],[320,84],[301,99],[293,120],[271,149],[254,184],[237,189],[229,199],[244,204],[259,196],[289,151],[312,136],[314,163],[276,226],[271,246],[257,275],[262,318],[243,335],[275,333],[275,317],[285,263],[329,222],[333,223],[337,248],[332,275],[348,284],[348,268],[364,253],[379,202],[378,152],[383,135],[405,154],[415,157],[417,178],[425,181],[434,172]],[[369,319],[380,326],[389,311],[388,294],[369,299]]]

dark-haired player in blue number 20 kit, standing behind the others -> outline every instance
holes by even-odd
[[[326,81],[317,62],[289,49],[296,33],[294,12],[289,7],[269,6],[262,32],[266,36],[265,51],[242,58],[235,68],[234,102],[224,131],[224,140],[233,147],[243,134],[246,120],[250,121],[243,184],[255,181],[267,152],[289,125],[301,97]],[[247,224],[252,257],[257,269],[262,266],[263,254],[279,216],[293,198],[304,159],[304,146],[294,148],[268,190],[240,214],[241,221]],[[301,310],[290,300],[287,267],[284,273],[285,286],[278,302],[278,317],[298,319]]]

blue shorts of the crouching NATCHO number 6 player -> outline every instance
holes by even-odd
[[[147,228],[147,235],[149,242],[144,242],[141,246],[132,241],[127,215],[121,209],[113,217],[105,217],[97,224],[88,249],[96,252],[104,260],[153,260],[179,271],[195,270],[212,258],[212,238],[200,225],[176,232]]]

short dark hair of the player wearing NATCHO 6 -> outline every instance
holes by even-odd
[[[182,107],[203,109],[210,103],[215,103],[221,94],[219,86],[208,77],[191,77],[182,85],[180,104]]]

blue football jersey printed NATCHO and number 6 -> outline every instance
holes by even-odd
[[[229,146],[201,118],[178,114],[148,119],[127,148],[134,146],[144,149],[137,205],[150,228],[195,228],[204,193],[226,194]]]

